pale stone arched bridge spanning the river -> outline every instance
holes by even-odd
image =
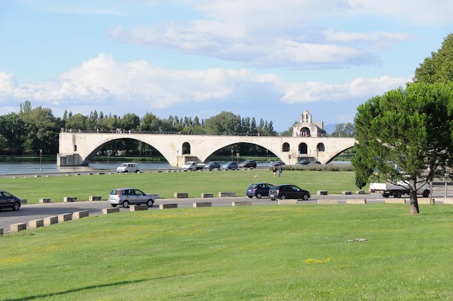
[[[113,140],[133,139],[157,149],[173,167],[186,161],[206,163],[220,149],[232,144],[249,143],[268,149],[285,164],[299,159],[330,162],[354,146],[355,138],[183,135],[147,132],[60,132],[58,166],[87,166],[91,157]],[[236,156],[236,154],[234,154]]]

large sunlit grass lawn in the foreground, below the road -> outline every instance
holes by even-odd
[[[0,300],[453,300],[453,207],[420,207],[149,210],[6,234]]]

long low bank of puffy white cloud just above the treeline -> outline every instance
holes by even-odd
[[[404,86],[409,78],[359,78],[348,84],[321,81],[291,83],[276,74],[246,69],[174,71],[144,61],[122,63],[103,53],[45,84],[18,84],[12,74],[0,73],[0,101],[17,99],[53,106],[142,106],[172,108],[190,103],[279,97],[284,103],[348,101],[369,98]],[[267,96],[266,96],[267,95]],[[270,101],[270,100],[268,100]]]

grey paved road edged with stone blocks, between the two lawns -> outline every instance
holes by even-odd
[[[432,193],[433,198],[442,198],[444,191],[442,188],[435,188]],[[367,199],[367,203],[384,203],[384,198],[379,193],[372,193],[367,195],[312,195],[310,200],[299,200],[299,204],[316,204],[319,199],[334,199],[338,203],[346,203],[349,199]],[[193,208],[195,202],[211,202],[212,206],[231,206],[232,202],[239,202],[244,200],[251,200],[253,205],[277,205],[277,201],[270,200],[269,198],[172,198],[165,200],[156,200],[152,208],[149,210],[159,210],[159,204],[173,204],[177,203],[178,208]],[[439,202],[437,202],[439,203]],[[441,202],[440,202],[441,203]],[[44,204],[30,204],[23,205],[21,210],[1,210],[0,212],[0,228],[4,228],[7,233],[11,225],[16,223],[27,223],[30,220],[41,220],[45,217],[60,215],[63,213],[73,213],[76,211],[88,210],[89,215],[102,215],[104,208],[111,208],[107,201],[82,201],[74,203],[44,203]],[[129,209],[120,208],[120,211],[125,212]]]

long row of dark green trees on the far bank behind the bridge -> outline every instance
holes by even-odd
[[[30,101],[21,103],[19,113],[0,115],[0,149],[2,154],[57,154],[59,132],[62,130],[116,130],[152,132],[193,132],[196,134],[222,135],[277,135],[273,122],[255,118],[241,118],[231,112],[222,112],[206,120],[198,117],[169,116],[161,119],[152,113],[142,118],[134,113],[122,117],[91,112],[90,115],[64,112],[63,118],[56,118],[50,108],[32,108]],[[134,154],[153,152],[152,147],[136,141],[117,141],[108,149],[127,149]],[[257,152],[253,146],[241,146],[235,150],[247,153]]]

